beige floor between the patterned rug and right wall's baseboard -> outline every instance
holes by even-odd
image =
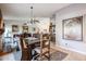
[[[62,48],[56,47],[56,46],[51,46],[51,48],[67,53],[67,56],[63,61],[86,61],[86,55],[84,55],[84,54],[81,54],[81,53],[77,53],[74,51],[70,51],[70,50],[65,50],[65,49],[62,49]]]

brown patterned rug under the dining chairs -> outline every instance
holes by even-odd
[[[62,61],[66,56],[67,56],[67,53],[51,49],[50,61]],[[40,59],[38,57],[38,61]],[[42,61],[48,61],[48,59],[47,57],[42,57]]]

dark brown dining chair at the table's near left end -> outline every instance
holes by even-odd
[[[30,61],[35,53],[35,51],[33,51],[33,49],[35,48],[34,44],[28,44],[28,39],[22,38],[21,46],[22,46],[22,60]]]

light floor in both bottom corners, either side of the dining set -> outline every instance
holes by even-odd
[[[62,49],[60,47],[56,47],[53,44],[51,44],[51,48],[67,53],[67,56],[63,61],[86,61],[86,55],[84,55],[84,54],[76,53],[76,52],[73,52],[73,51],[70,51],[70,50],[65,50],[65,49]],[[12,53],[8,54],[8,55],[4,55],[2,59],[4,61],[5,60],[7,61],[14,61],[14,57],[13,57]]]

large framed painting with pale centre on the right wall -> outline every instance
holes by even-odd
[[[62,37],[69,40],[83,40],[83,16],[62,21]]]

